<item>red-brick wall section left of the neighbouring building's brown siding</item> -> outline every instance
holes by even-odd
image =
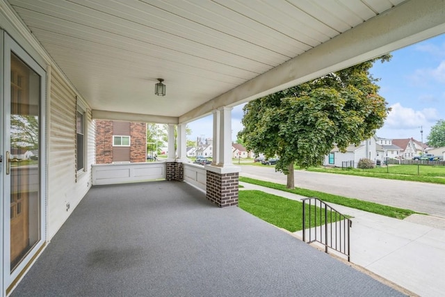
[[[111,120],[95,120],[96,125],[96,163],[113,162],[113,122]]]

